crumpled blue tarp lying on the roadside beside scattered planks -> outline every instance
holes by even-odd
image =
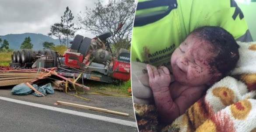
[[[48,83],[48,84],[42,85],[42,86],[38,86],[38,85],[34,84],[32,86],[36,90],[41,92],[43,95],[46,95],[46,93],[54,94],[54,89],[53,89],[51,83]],[[42,96],[42,95],[39,95],[38,93],[36,93],[35,91],[33,91],[31,88],[29,88],[25,84],[19,84],[19,85],[14,86],[11,90],[11,93],[14,95],[29,95],[32,93],[33,95],[38,96],[38,97]]]

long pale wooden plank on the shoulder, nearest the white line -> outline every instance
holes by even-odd
[[[108,110],[105,108],[97,108],[97,107],[92,107],[92,106],[88,106],[88,105],[79,105],[79,104],[74,104],[74,103],[69,103],[69,102],[61,102],[61,101],[57,101],[56,103],[58,105],[66,105],[66,106],[71,106],[71,107],[76,107],[76,108],[83,108],[83,109],[94,110],[94,111],[99,111],[99,112],[106,112],[106,113],[110,113],[110,114],[129,116],[128,113],[111,111],[111,110]]]

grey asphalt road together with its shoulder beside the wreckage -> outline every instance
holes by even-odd
[[[137,132],[133,107],[130,105],[131,98],[99,95],[87,95],[87,97],[95,99],[91,102],[85,102],[62,92],[39,98],[34,95],[18,96],[11,95],[10,89],[1,89],[0,132]],[[4,98],[4,100],[1,98]],[[130,113],[130,116],[125,117],[63,105],[53,105],[57,100],[127,112]],[[109,100],[109,102],[119,100],[119,103],[105,103],[104,106],[103,100]],[[40,108],[34,105],[24,105],[20,102],[43,106]],[[127,105],[124,105],[125,103]],[[125,125],[122,125],[122,122]],[[129,123],[132,125],[127,125]]]

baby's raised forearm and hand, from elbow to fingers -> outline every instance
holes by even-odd
[[[154,102],[158,108],[158,114],[161,121],[170,123],[173,118],[179,115],[179,107],[172,101],[169,91],[171,83],[170,72],[165,67],[159,69],[154,66],[147,65],[147,73],[149,77],[149,85],[154,95]]]

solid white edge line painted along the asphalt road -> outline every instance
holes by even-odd
[[[89,114],[89,113],[85,113],[85,112],[78,112],[78,111],[74,111],[74,110],[58,108],[58,107],[53,107],[53,106],[49,106],[49,105],[41,105],[41,104],[32,103],[32,102],[25,102],[25,101],[12,99],[12,98],[1,97],[1,96],[0,96],[0,99],[8,101],[8,102],[14,102],[14,103],[23,104],[23,105],[29,105],[29,106],[33,106],[33,107],[44,108],[44,109],[48,109],[48,110],[52,110],[52,111],[56,111],[56,112],[62,112],[62,113],[67,113],[67,114],[71,114],[71,115],[78,115],[78,116],[82,116],[82,117],[86,117],[86,118],[92,118],[92,119],[96,119],[96,120],[101,120],[101,121],[105,121],[105,122],[112,122],[112,123],[116,123],[116,124],[127,125],[127,126],[132,126],[132,127],[137,128],[137,123],[136,122],[126,121],[126,120],[122,120],[122,119],[118,119],[118,118],[111,118],[111,117],[106,117],[106,116],[102,116],[102,115],[95,115],[95,114]]]

